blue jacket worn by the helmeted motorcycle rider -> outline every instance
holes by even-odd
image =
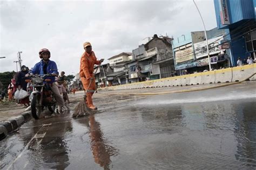
[[[44,67],[45,63],[43,62],[43,60],[41,60],[39,63],[37,63],[35,66],[32,67],[30,73],[33,73],[33,74],[41,74],[43,75],[44,74]],[[49,60],[48,61],[48,66],[47,66],[47,73],[48,74],[58,74],[58,69],[57,69],[57,65],[55,62]],[[48,79],[51,79],[51,82],[49,83],[53,83],[55,82],[55,77],[51,76],[51,77],[45,77],[45,79],[48,78]]]

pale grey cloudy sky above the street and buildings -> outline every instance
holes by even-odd
[[[206,29],[217,26],[213,0],[196,0]],[[203,30],[192,0],[169,1],[0,1],[0,72],[39,62],[38,51],[51,51],[59,71],[79,71],[83,42],[92,43],[98,59],[131,52],[140,40],[174,38]]]

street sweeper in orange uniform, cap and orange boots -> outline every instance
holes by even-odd
[[[97,60],[95,53],[92,51],[91,43],[83,44],[85,52],[80,59],[80,77],[84,86],[84,90],[88,89],[86,94],[86,105],[91,110],[97,110],[92,103],[92,95],[96,90],[95,76],[93,74],[94,65],[99,65],[104,59]]]

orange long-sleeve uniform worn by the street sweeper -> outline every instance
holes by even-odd
[[[91,54],[84,52],[80,60],[80,77],[83,83],[84,90],[86,90],[90,84],[90,78],[94,78],[93,71],[94,65],[99,65],[100,61],[97,60],[95,53],[92,51]],[[96,90],[95,79],[92,80],[89,87],[89,92]]]

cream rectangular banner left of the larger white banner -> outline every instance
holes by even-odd
[[[194,59],[193,47],[187,47],[186,49],[175,51],[175,62],[182,63],[188,60]]]

